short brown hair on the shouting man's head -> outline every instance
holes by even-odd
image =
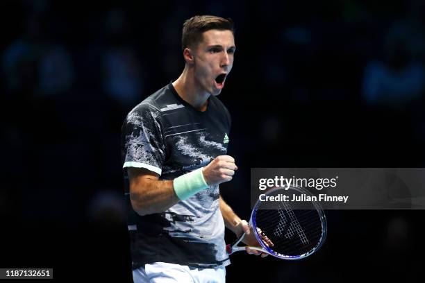
[[[181,35],[181,48],[184,50],[188,46],[194,46],[202,41],[202,33],[212,29],[220,31],[233,31],[232,19],[203,15],[194,16],[185,20]]]

